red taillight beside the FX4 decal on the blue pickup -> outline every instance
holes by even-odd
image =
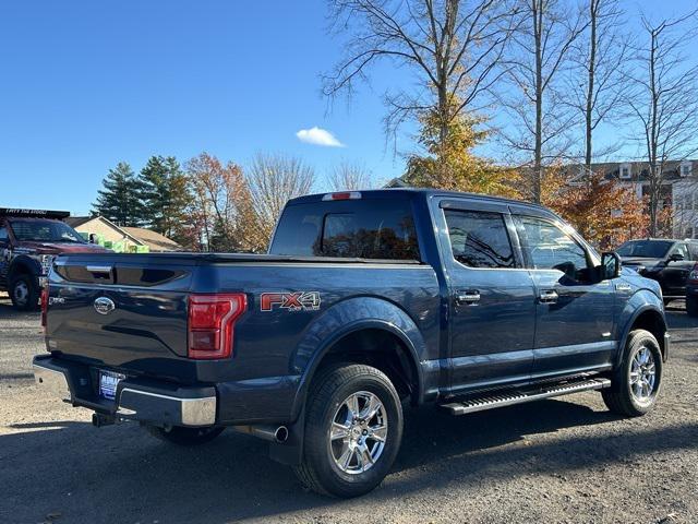
[[[189,297],[190,358],[227,358],[232,355],[236,320],[248,309],[243,293]]]

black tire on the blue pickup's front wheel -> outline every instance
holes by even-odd
[[[654,379],[651,388],[648,385],[647,397],[639,397],[634,393],[630,376],[634,359],[642,349],[648,349],[654,366]],[[623,352],[621,366],[614,371],[611,388],[602,390],[603,402],[614,413],[628,417],[639,417],[649,413],[657,403],[662,386],[662,352],[654,335],[649,331],[634,330]]]

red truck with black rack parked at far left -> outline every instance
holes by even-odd
[[[62,222],[69,216],[67,211],[0,207],[0,291],[10,294],[16,309],[38,308],[53,257],[106,251]]]

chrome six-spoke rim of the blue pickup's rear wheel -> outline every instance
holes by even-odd
[[[360,391],[345,398],[329,428],[329,451],[344,473],[370,469],[381,457],[388,434],[385,407],[374,393]]]

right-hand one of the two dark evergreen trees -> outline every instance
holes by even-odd
[[[184,237],[192,194],[177,159],[152,156],[139,182],[146,226],[176,241]]]

